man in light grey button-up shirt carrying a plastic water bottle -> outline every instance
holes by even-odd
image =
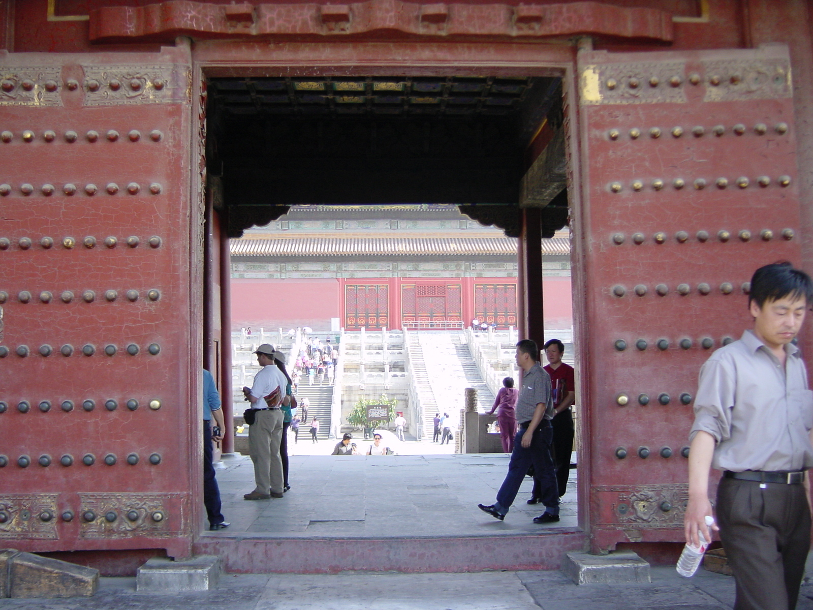
[[[813,392],[792,343],[813,303],[811,278],[789,263],[757,269],[754,329],[700,371],[689,452],[686,542],[720,531],[737,582],[735,610],[793,610],[811,541]],[[722,470],[716,524],[709,469]]]

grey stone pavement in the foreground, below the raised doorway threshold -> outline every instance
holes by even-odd
[[[798,610],[813,610],[813,581],[802,585]],[[102,578],[83,599],[4,599],[12,610],[729,610],[732,577],[701,570],[678,576],[651,569],[651,583],[576,585],[559,572],[335,575],[224,574],[215,590],[155,595],[135,578]]]

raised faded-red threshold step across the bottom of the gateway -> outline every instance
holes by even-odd
[[[550,534],[446,538],[259,538],[207,536],[196,555],[219,556],[227,573],[335,574],[558,570],[568,551],[585,551],[580,529]]]

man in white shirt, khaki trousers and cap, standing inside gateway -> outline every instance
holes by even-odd
[[[274,363],[274,346],[263,343],[254,354],[263,368],[254,375],[254,385],[243,388],[246,400],[254,410],[254,423],[249,425],[249,454],[254,462],[256,487],[246,500],[282,498],[284,480],[280,442],[284,415],[280,407],[289,401],[285,395],[288,380]]]

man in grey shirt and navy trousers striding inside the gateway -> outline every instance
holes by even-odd
[[[534,523],[559,521],[559,489],[556,485],[554,460],[550,456],[553,441],[554,403],[550,391],[550,375],[539,366],[539,348],[530,339],[516,344],[516,364],[522,368],[522,388],[516,401],[517,432],[514,451],[508,463],[508,473],[497,493],[497,502],[485,506],[477,504],[483,512],[502,521],[514,503],[520,485],[533,464],[534,477],[541,487],[541,502],[545,512],[534,518]]]

